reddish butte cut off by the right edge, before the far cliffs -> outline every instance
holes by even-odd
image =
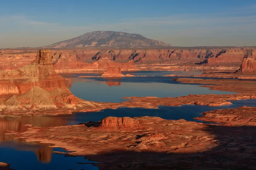
[[[236,73],[256,73],[256,59],[244,58]]]

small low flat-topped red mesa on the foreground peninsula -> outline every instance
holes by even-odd
[[[101,120],[99,127],[102,128],[131,128],[137,127],[140,122],[130,117],[106,117]]]

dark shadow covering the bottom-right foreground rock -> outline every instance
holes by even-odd
[[[118,151],[88,156],[99,169],[119,170],[255,170],[256,169],[256,127],[227,127],[207,125],[205,131],[215,136],[217,147],[197,152],[180,152],[179,148],[165,153],[148,150]],[[141,138],[143,136],[137,136]],[[197,139],[193,139],[197,140]],[[170,142],[172,140],[170,139]],[[203,144],[203,143],[202,143]],[[129,147],[129,146],[127,146]],[[183,150],[184,151],[184,150]]]

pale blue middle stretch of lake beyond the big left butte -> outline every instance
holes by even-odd
[[[81,99],[96,102],[122,102],[122,97],[178,97],[189,94],[234,94],[227,91],[212,91],[198,85],[183,84],[172,81],[175,77],[162,77],[167,74],[194,75],[198,71],[139,71],[123,74],[147,75],[154,77],[122,78],[77,78],[78,76],[99,76],[100,74],[62,74],[70,79],[70,91]]]

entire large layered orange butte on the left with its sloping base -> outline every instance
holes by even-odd
[[[98,109],[100,105],[79,99],[68,90],[65,78],[55,73],[49,50],[39,50],[35,60],[16,71],[2,71],[0,80],[1,112],[56,112],[60,108]]]

